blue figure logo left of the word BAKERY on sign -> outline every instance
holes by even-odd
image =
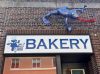
[[[13,39],[7,45],[10,45],[11,51],[22,51],[25,43],[20,43],[20,40]]]

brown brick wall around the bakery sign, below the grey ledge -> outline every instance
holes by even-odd
[[[96,18],[96,23],[81,23],[78,21],[71,22],[69,20],[69,24],[73,26],[73,31],[71,33],[68,33],[63,27],[63,20],[60,16],[54,17],[55,19],[59,18],[56,22],[51,20],[52,26],[44,26],[40,18],[50,10],[52,9],[27,7],[0,8],[1,65],[3,65],[4,62],[3,49],[7,34],[90,34],[94,50],[94,54],[91,56],[91,61],[89,62],[90,70],[91,74],[100,74],[100,9],[87,9],[87,12],[81,15],[86,18]],[[91,17],[91,15],[94,16]]]

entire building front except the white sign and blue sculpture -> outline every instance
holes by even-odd
[[[100,1],[70,1],[0,1],[0,74],[100,74]],[[88,7],[80,16],[95,18],[96,22],[69,19],[73,27],[70,33],[66,31],[61,16],[51,16],[51,26],[42,22],[42,17],[57,7],[73,8],[84,4]],[[4,54],[8,35],[89,35],[93,53]]]

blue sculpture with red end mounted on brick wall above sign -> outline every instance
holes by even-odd
[[[47,13],[45,16],[43,16],[42,20],[45,25],[51,25],[51,23],[49,21],[49,17],[52,15],[61,15],[64,17],[64,21],[65,21],[64,26],[65,26],[66,30],[68,32],[71,32],[72,26],[71,26],[71,24],[68,23],[69,18],[73,19],[73,20],[79,20],[80,22],[87,22],[87,23],[93,23],[96,21],[95,18],[85,19],[80,16],[80,14],[82,14],[83,12],[86,11],[86,7],[87,7],[87,5],[84,5],[83,8],[74,8],[74,9],[70,9],[67,6],[61,7],[61,8],[52,10],[51,12]],[[80,11],[80,13],[79,13],[79,11]]]

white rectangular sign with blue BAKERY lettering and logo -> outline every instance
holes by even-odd
[[[92,53],[89,35],[7,35],[4,54]]]

